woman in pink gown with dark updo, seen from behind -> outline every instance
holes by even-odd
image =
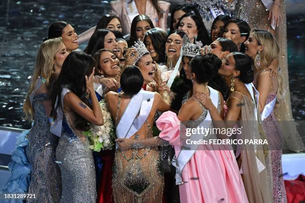
[[[199,55],[191,60],[186,74],[191,75],[192,92],[205,94],[211,98],[211,105],[216,109],[215,113],[222,117],[224,114],[222,95],[207,86],[220,67],[221,60],[214,54]],[[168,122],[170,125],[166,124]],[[176,166],[178,171],[176,184],[180,184],[180,202],[211,203],[221,197],[230,203],[247,203],[245,188],[232,146],[209,144],[209,139],[217,139],[217,135],[211,132],[197,138],[191,137],[196,141],[204,139],[207,144],[196,145],[186,142],[186,146],[194,152],[190,155],[185,153],[181,158],[179,155],[183,153],[183,150],[180,151],[180,145],[175,140],[184,140],[186,136],[192,136],[192,134],[199,135],[199,132],[188,135],[180,132],[182,122],[186,123],[186,128],[202,129],[210,127],[213,120],[208,110],[196,98],[191,97],[182,104],[178,116],[167,111],[156,121],[157,127],[161,130],[159,136],[173,145],[176,160],[181,163]],[[193,177],[200,178],[192,181]]]

